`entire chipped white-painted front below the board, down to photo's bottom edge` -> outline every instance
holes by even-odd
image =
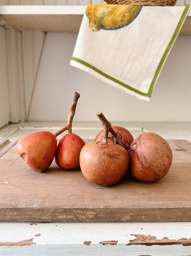
[[[0,242],[19,242],[33,239],[35,245],[0,247],[9,255],[189,255],[191,246],[127,246],[133,234],[154,235],[157,239],[188,238],[191,223],[12,223],[1,222]],[[40,235],[39,235],[40,234]],[[35,236],[38,235],[38,236]],[[118,241],[116,245],[102,245],[102,241]],[[85,241],[91,244],[85,245]],[[51,250],[51,254],[48,251]],[[19,254],[20,253],[20,254]],[[181,253],[181,254],[180,254]]]

